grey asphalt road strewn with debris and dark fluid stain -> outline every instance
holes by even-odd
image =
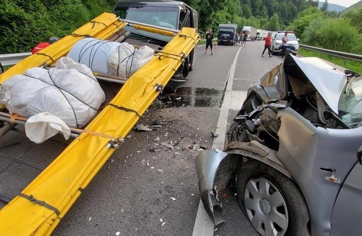
[[[197,63],[188,82],[175,94],[161,95],[139,123],[150,132],[132,131],[126,142],[106,162],[83,191],[54,235],[192,235],[199,193],[194,158],[199,148],[212,148],[230,74],[239,48],[219,46],[214,55],[197,50]],[[261,57],[263,42],[247,43],[236,61],[231,84],[233,99],[228,120],[240,109],[247,88],[272,67],[279,57]],[[236,104],[236,105],[235,105]],[[163,142],[174,149],[150,151]],[[16,144],[19,143],[19,144]],[[1,149],[1,147],[16,144]],[[13,198],[66,147],[61,137],[35,145],[25,135],[10,132],[0,140],[0,194]],[[26,163],[14,161],[16,158]],[[17,160],[17,159],[16,159]],[[24,162],[23,162],[24,163]],[[256,235],[242,215],[232,192],[223,200],[226,223],[214,235]],[[0,202],[0,208],[4,203]]]

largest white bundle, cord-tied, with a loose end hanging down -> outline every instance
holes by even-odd
[[[35,67],[11,77],[2,84],[1,94],[10,113],[30,117],[25,131],[36,143],[58,131],[67,134],[65,125],[85,126],[105,101],[92,71],[68,57],[59,59],[56,68]]]

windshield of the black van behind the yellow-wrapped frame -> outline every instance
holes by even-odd
[[[178,29],[179,8],[177,7],[155,7],[155,6],[137,6],[137,7],[117,7],[115,15],[122,19],[138,21],[150,25],[161,26],[170,29]],[[133,27],[127,26],[127,31],[135,34],[142,34],[151,38],[170,41],[171,37],[149,33],[146,31],[136,30]]]

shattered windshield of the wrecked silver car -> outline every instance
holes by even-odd
[[[362,121],[362,77],[354,79],[338,104],[339,117],[348,125],[356,125]]]

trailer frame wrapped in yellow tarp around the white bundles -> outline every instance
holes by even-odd
[[[87,37],[127,41],[129,31],[125,27],[167,36],[170,40],[155,50],[151,61],[128,78],[94,73],[99,84],[116,92],[108,97],[106,93],[106,101],[97,115],[84,128],[72,128],[74,140],[0,210],[0,235],[50,235],[107,159],[125,142],[132,127],[163,92],[165,85],[179,73],[178,69],[187,62],[200,36],[195,28],[176,30],[103,13],[0,74],[2,84],[29,68],[53,67],[74,44]],[[128,42],[138,47],[137,40]],[[144,44],[143,41],[138,43]],[[0,137],[16,125],[23,125],[27,119],[10,114],[4,105],[0,106]],[[0,197],[6,201],[4,196]]]

